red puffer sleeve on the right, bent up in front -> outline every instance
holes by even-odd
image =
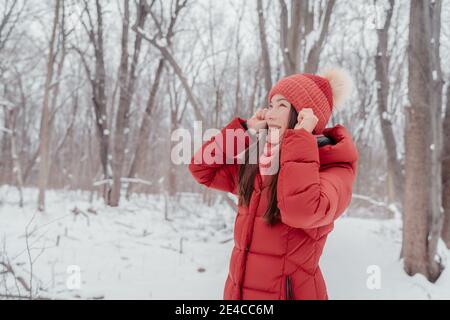
[[[280,162],[277,201],[283,223],[294,228],[317,228],[332,223],[349,206],[356,161],[319,170],[316,138],[301,128],[287,130]]]

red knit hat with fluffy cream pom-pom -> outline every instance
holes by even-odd
[[[350,95],[352,80],[349,74],[339,68],[329,69],[322,75],[299,73],[279,80],[269,92],[269,104],[276,94],[283,95],[299,112],[312,108],[319,119],[314,134],[325,129],[334,106],[340,106]]]

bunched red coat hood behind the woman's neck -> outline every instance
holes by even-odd
[[[334,127],[325,128],[322,133],[333,139],[335,144],[319,148],[321,165],[346,162],[353,167],[356,166],[359,157],[358,150],[353,142],[352,135],[343,125],[337,124]]]

